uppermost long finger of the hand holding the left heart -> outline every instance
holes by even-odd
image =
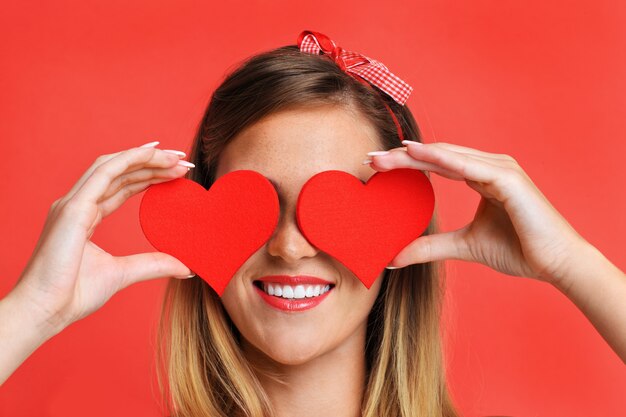
[[[172,167],[182,162],[178,156],[154,148],[132,148],[111,158],[96,168],[76,192],[75,198],[87,202],[99,201],[116,177],[138,167]],[[186,161],[185,161],[186,162]]]

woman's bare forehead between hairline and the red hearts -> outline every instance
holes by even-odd
[[[337,169],[367,180],[367,152],[381,149],[372,124],[344,106],[273,113],[240,132],[221,154],[216,176],[258,171],[275,183],[299,187],[312,175]]]

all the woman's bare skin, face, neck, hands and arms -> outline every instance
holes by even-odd
[[[283,372],[291,384],[262,380],[279,416],[354,416],[362,396],[363,322],[379,283],[363,291],[341,265],[308,245],[294,219],[298,190],[326,169],[366,180],[375,171],[409,167],[465,181],[482,197],[474,219],[459,230],[418,238],[391,265],[462,259],[547,282],[572,300],[626,361],[626,277],[576,233],[513,158],[451,143],[407,143],[361,164],[367,152],[380,150],[371,133],[367,123],[345,110],[301,109],[242,132],[221,160],[219,175],[252,168],[283,190],[276,232],[242,266],[223,297],[246,339],[245,355]],[[163,253],[114,257],[89,240],[102,219],[129,197],[152,183],[183,176],[187,168],[178,163],[178,155],[153,146],[103,155],[53,203],[18,283],[0,300],[0,383],[42,343],[117,291],[191,272]],[[328,297],[307,314],[264,310],[252,297],[251,280],[273,273],[333,280],[334,299]],[[247,302],[236,302],[241,298]],[[343,307],[347,301],[352,309]],[[332,320],[337,314],[343,320]]]

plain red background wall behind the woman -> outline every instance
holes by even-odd
[[[426,142],[513,155],[626,267],[624,2],[3,3],[0,296],[50,204],[98,155],[152,140],[188,151],[225,71],[303,29],[411,84]],[[444,230],[465,225],[478,195],[433,178]],[[151,250],[139,201],[105,219],[94,241],[114,255]],[[467,415],[626,414],[626,367],[561,293],[479,264],[448,269],[449,377]],[[164,283],[123,290],[44,344],[0,388],[0,415],[159,415],[151,341]]]

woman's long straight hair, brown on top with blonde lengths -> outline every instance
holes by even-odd
[[[329,57],[283,46],[246,59],[214,91],[190,152],[188,178],[206,189],[220,153],[239,132],[273,112],[317,104],[356,109],[384,149],[402,146],[383,101],[406,139],[421,141],[407,105],[343,72]],[[428,174],[427,174],[428,175]],[[436,233],[437,214],[425,234]],[[368,316],[364,417],[442,416],[457,411],[445,379],[439,262],[385,270]],[[272,405],[240,348],[240,334],[202,279],[170,278],[157,333],[157,377],[169,415],[270,417]]]

